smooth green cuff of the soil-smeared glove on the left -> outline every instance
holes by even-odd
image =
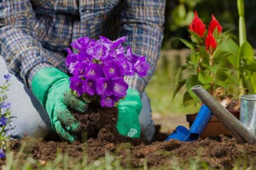
[[[34,75],[31,85],[32,93],[38,98],[44,108],[49,89],[55,82],[63,78],[69,78],[69,76],[52,67],[42,68]]]

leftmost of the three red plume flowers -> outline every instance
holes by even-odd
[[[189,29],[195,33],[197,33],[200,37],[204,36],[206,25],[203,21],[198,17],[197,12],[195,11],[195,16],[192,23],[189,25]]]

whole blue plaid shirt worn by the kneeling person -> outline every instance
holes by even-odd
[[[0,0],[0,55],[10,73],[31,88],[41,68],[64,72],[66,48],[84,36],[127,36],[151,66],[146,77],[125,77],[142,94],[160,56],[165,0]]]

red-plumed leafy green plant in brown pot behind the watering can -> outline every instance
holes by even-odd
[[[256,91],[256,62],[253,48],[246,41],[244,22],[244,3],[238,0],[239,8],[239,41],[240,47],[233,41],[230,31],[222,32],[222,27],[212,14],[212,21],[207,26],[198,17],[189,25],[192,42],[180,39],[192,53],[187,57],[186,65],[177,71],[173,98],[184,85],[187,91],[183,96],[183,106],[200,102],[191,91],[195,85],[202,85],[212,96],[224,105],[239,119],[239,95]],[[189,70],[190,75],[180,79],[182,71]],[[255,77],[255,78],[254,78]],[[186,115],[191,126],[196,115]],[[201,134],[201,138],[228,135],[229,132],[213,116]]]

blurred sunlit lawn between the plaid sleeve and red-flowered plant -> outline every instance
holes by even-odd
[[[196,108],[194,106],[189,106],[187,108],[181,106],[185,89],[181,89],[182,91],[178,92],[175,99],[172,100],[174,82],[171,78],[173,76],[170,76],[170,74],[175,73],[168,73],[166,68],[158,67],[145,89],[151,99],[152,112],[161,114],[196,113],[199,106]]]

